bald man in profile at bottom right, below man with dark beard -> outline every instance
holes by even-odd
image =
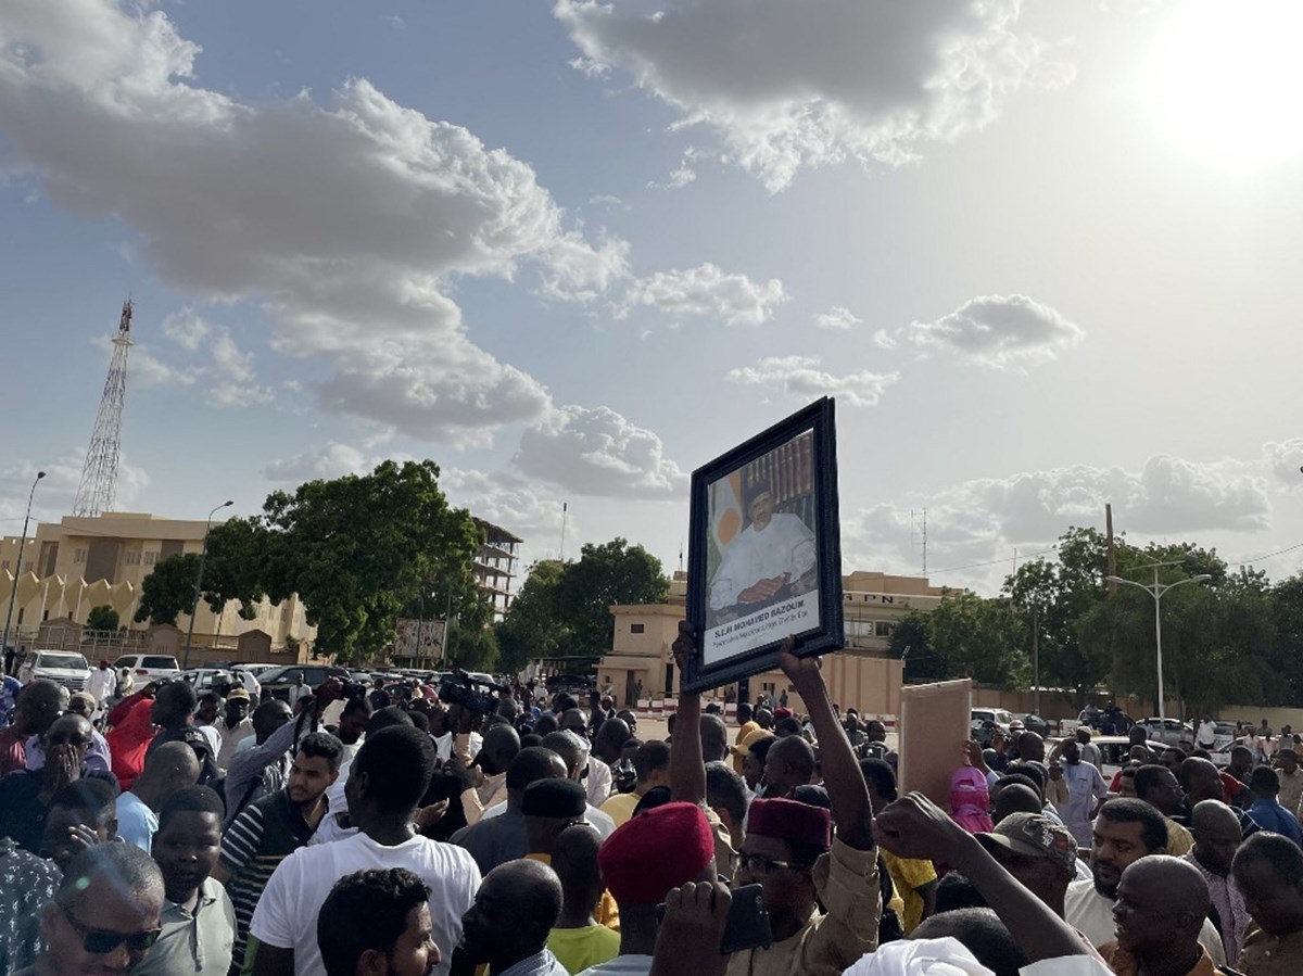
[[[1122,872],[1113,908],[1117,940],[1100,954],[1118,976],[1210,976],[1218,969],[1199,943],[1208,907],[1208,886],[1190,864],[1141,857]]]

